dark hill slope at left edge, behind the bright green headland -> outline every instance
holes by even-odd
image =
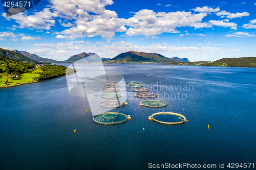
[[[10,51],[10,50],[5,50],[3,48],[0,48],[0,55],[10,58],[10,59],[13,59],[13,60],[16,60],[16,61],[25,61],[25,62],[33,63],[33,64],[38,63],[37,61],[30,59],[20,53]]]

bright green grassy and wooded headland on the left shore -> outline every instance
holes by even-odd
[[[72,74],[74,71],[62,65],[20,62],[0,55],[0,88],[36,83],[66,73]]]

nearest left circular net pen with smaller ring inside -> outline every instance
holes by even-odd
[[[93,117],[93,122],[102,125],[121,124],[127,120],[127,116],[123,113],[106,112],[100,113]]]

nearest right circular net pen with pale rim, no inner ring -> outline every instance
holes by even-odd
[[[182,114],[172,113],[172,112],[158,112],[152,114],[152,119],[160,124],[165,125],[176,125],[185,123],[186,117]]]

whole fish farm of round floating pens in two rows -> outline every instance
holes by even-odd
[[[116,88],[116,87],[121,87],[120,85],[116,85],[117,82],[109,81],[109,82],[106,82],[106,84],[108,84],[108,85],[105,85],[106,89],[102,90],[104,92],[121,91],[121,89]],[[134,95],[135,97],[142,98],[142,99],[157,97],[157,94],[145,92],[145,91],[149,91],[149,89],[141,88],[143,87],[143,85],[140,85],[139,82],[126,82],[125,84],[127,84],[127,86],[130,86],[130,87],[135,87],[135,88],[132,88],[131,91],[139,92]],[[106,99],[118,99],[123,97],[123,94],[107,93],[107,94],[101,94],[100,96],[101,98],[106,98]],[[118,107],[127,105],[127,102],[110,100],[110,101],[100,102],[99,105],[106,108],[118,108]],[[158,101],[158,100],[147,100],[147,101],[141,102],[140,106],[156,108],[156,107],[165,107],[167,106],[167,103],[163,101]],[[125,122],[127,119],[131,119],[131,116],[125,115],[123,113],[117,113],[117,112],[100,113],[93,117],[93,121],[95,123],[103,124],[103,125],[120,124]],[[149,116],[148,119],[149,120],[153,119],[154,122],[165,124],[165,125],[182,124],[188,121],[185,116],[178,113],[173,113],[173,112],[154,113],[151,116]]]

